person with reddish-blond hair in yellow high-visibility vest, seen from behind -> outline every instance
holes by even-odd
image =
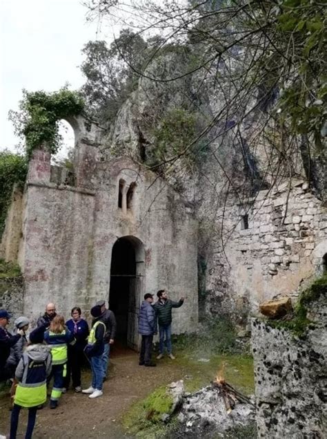
[[[44,333],[44,341],[50,346],[52,353],[53,387],[50,409],[56,409],[63,389],[63,377],[66,375],[67,344],[75,344],[74,335],[66,328],[61,315],[56,315],[51,321],[50,328]]]

